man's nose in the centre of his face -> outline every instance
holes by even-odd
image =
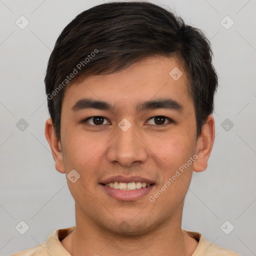
[[[131,125],[126,131],[116,127],[117,134],[111,140],[107,150],[108,162],[119,162],[129,167],[135,162],[145,162],[148,150],[138,129]]]

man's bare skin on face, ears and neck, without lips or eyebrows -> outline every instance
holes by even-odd
[[[183,73],[176,81],[169,75],[174,67]],[[192,171],[207,167],[215,131],[209,115],[196,136],[194,104],[186,84],[185,70],[177,59],[151,56],[119,72],[89,76],[66,88],[61,141],[51,118],[46,120],[45,136],[55,168],[66,175],[72,169],[80,174],[74,183],[67,178],[75,201],[76,228],[61,243],[71,255],[192,255],[197,241],[181,229],[184,197]],[[115,110],[73,111],[75,102],[84,97],[108,101]],[[134,109],[137,102],[166,97],[180,103],[182,111]],[[174,122],[165,119],[167,124],[157,125],[151,117],[159,115]],[[104,123],[80,122],[90,116],[103,116]],[[123,118],[131,123],[125,132],[118,127]],[[197,151],[200,155],[193,163],[150,202],[148,197]],[[147,177],[155,185],[137,200],[117,200],[99,185],[103,178],[117,174]]]

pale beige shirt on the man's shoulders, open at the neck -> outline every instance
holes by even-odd
[[[74,228],[75,226],[54,230],[48,236],[46,242],[33,248],[16,252],[11,254],[11,256],[70,256],[67,250],[62,246],[60,240],[65,238]],[[200,233],[191,231],[186,232],[198,241],[198,245],[192,256],[239,256],[239,254],[231,250],[206,241]]]

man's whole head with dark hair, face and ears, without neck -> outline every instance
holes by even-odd
[[[76,223],[119,234],[180,225],[214,140],[217,78],[202,33],[150,3],[98,5],[64,28],[45,84],[45,135]],[[126,183],[138,188],[118,189]]]

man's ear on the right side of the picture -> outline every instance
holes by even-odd
[[[202,131],[196,142],[197,158],[193,164],[193,170],[203,171],[207,168],[207,161],[213,146],[215,137],[215,124],[212,115],[209,115],[206,123],[202,126]]]

